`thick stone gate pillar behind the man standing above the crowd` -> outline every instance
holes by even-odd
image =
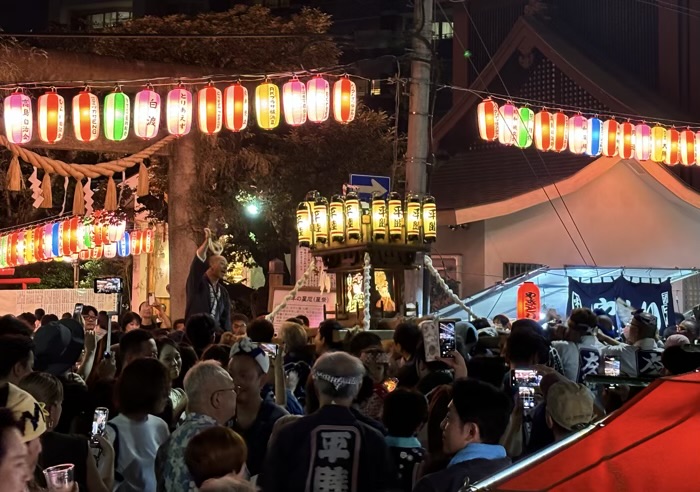
[[[193,239],[194,224],[191,190],[197,182],[195,168],[195,136],[188,135],[175,144],[175,155],[168,169],[168,241],[170,251],[170,317],[185,315],[185,283],[197,244]]]

